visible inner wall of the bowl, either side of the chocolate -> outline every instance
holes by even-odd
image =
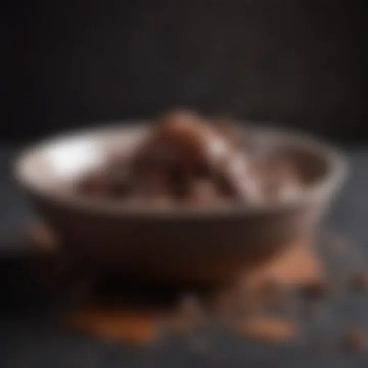
[[[111,154],[127,154],[147,134],[147,125],[112,126],[67,134],[23,153],[19,179],[29,189],[53,196],[75,195],[73,184],[87,171],[103,166]],[[268,129],[242,128],[244,139],[278,145],[294,160],[309,190],[341,174],[334,151],[304,136]]]

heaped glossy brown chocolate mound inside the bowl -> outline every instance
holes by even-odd
[[[191,111],[165,113],[130,157],[111,156],[107,167],[78,183],[78,192],[127,201],[129,196],[161,196],[165,203],[169,197],[201,203],[224,198],[262,201],[267,186],[262,180],[269,180],[268,174],[263,177],[257,160],[253,163],[237,144],[239,137],[235,126],[226,120],[210,124]],[[285,187],[283,195],[293,196],[298,192],[290,179],[294,168],[279,158],[270,161],[268,176],[283,178],[276,191]],[[203,186],[199,179],[209,183]]]

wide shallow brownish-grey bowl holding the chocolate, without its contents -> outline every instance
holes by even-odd
[[[289,151],[306,189],[284,201],[151,205],[91,200],[71,190],[111,154],[128,154],[149,124],[59,136],[22,153],[17,178],[70,257],[99,271],[170,282],[224,282],[314,233],[345,175],[344,159],[309,137],[241,128]]]

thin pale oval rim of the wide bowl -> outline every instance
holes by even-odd
[[[150,121],[114,121],[109,122],[104,126],[96,126],[82,129],[73,129],[64,133],[55,134],[47,139],[41,140],[36,144],[32,144],[29,147],[21,150],[15,158],[15,164],[13,167],[14,175],[18,183],[29,194],[36,198],[42,198],[48,202],[58,203],[75,210],[85,210],[90,213],[102,213],[102,214],[117,214],[122,216],[139,216],[139,217],[157,217],[166,219],[175,219],[183,217],[227,217],[229,215],[245,215],[256,213],[272,213],[283,212],[286,210],[293,210],[301,208],[303,205],[309,205],[313,201],[321,201],[324,196],[327,196],[329,192],[337,190],[344,180],[348,172],[348,163],[345,155],[337,149],[329,145],[326,141],[308,133],[301,133],[291,129],[280,129],[274,127],[265,127],[257,123],[257,127],[249,126],[241,122],[240,129],[245,131],[254,131],[259,133],[275,133],[284,137],[284,139],[298,144],[310,152],[314,152],[321,157],[324,157],[329,168],[325,175],[316,180],[312,185],[306,188],[303,193],[297,198],[284,201],[275,202],[260,202],[260,203],[221,203],[219,205],[210,206],[175,206],[175,207],[162,207],[155,206],[129,206],[127,203],[122,202],[108,202],[99,200],[90,200],[76,195],[67,195],[64,192],[47,191],[44,188],[40,188],[34,185],[27,177],[25,170],[23,170],[25,162],[30,159],[36,152],[46,149],[53,143],[68,139],[81,139],[83,136],[91,134],[101,134],[103,132],[114,130],[138,130],[147,129],[152,122]],[[250,122],[252,123],[252,122]]]

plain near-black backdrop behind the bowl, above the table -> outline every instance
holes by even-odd
[[[362,6],[7,1],[0,137],[33,140],[184,105],[362,142]]]

